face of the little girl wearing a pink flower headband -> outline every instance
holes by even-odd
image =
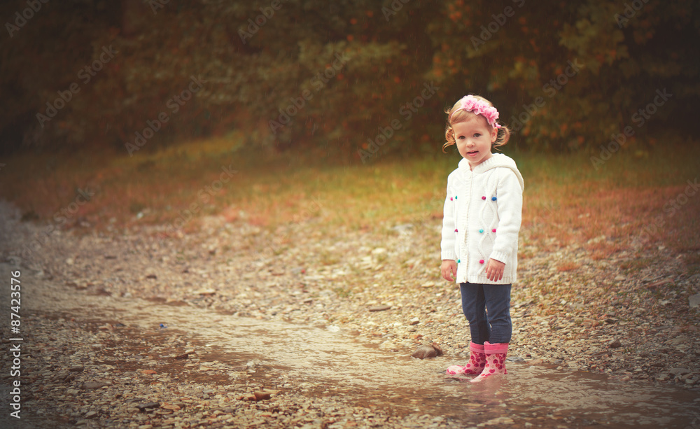
[[[470,115],[465,122],[452,125],[452,129],[459,155],[469,162],[472,169],[491,157],[491,144],[496,141],[498,129],[489,127],[486,118]]]

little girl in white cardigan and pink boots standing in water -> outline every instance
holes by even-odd
[[[468,95],[446,113],[442,150],[456,144],[463,160],[447,177],[440,271],[445,280],[459,283],[471,333],[469,363],[451,366],[447,374],[477,375],[475,382],[507,374],[524,182],[510,157],[491,153],[510,139],[491,101]]]

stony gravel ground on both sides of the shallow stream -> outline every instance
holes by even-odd
[[[162,238],[152,226],[46,235],[6,203],[0,218],[3,273],[19,267],[46,289],[36,299],[23,295],[27,420],[141,429],[462,427],[449,416],[374,406],[358,391],[290,384],[254,359],[204,353],[192,332],[158,329],[148,318],[122,323],[134,319],[117,311],[146,300],[174,313],[316,326],[396,356],[436,342],[458,362],[468,356],[468,324],[458,288],[439,278],[440,220],[353,231],[302,220],[269,232],[208,217],[197,232]],[[697,390],[700,274],[686,272],[668,248],[648,253],[631,240],[628,251],[594,260],[582,243],[553,242],[545,251],[528,245],[528,234],[521,232],[521,281],[512,293],[513,364]],[[43,244],[31,246],[35,239]],[[28,243],[35,250],[18,258]],[[106,301],[115,312],[104,312]],[[447,360],[424,362],[439,372]]]

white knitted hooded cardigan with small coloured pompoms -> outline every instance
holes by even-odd
[[[447,177],[442,219],[442,260],[457,262],[457,283],[517,281],[523,177],[515,162],[494,153],[470,169],[462,159]],[[486,262],[505,263],[500,281],[486,279]]]

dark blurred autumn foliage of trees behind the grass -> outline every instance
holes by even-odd
[[[700,92],[691,0],[29,3],[0,6],[6,152],[230,135],[375,160],[440,150],[475,93],[510,146],[595,154],[629,127],[638,148],[692,132]]]

